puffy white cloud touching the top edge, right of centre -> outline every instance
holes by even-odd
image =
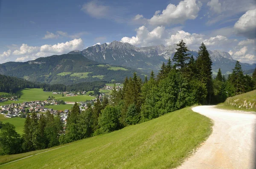
[[[148,20],[151,25],[183,24],[186,20],[194,20],[202,3],[196,0],[184,0],[175,6],[170,3],[162,12],[156,11],[154,16]]]

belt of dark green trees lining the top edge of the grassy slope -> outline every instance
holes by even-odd
[[[189,54],[183,40],[176,50],[173,59],[163,63],[157,75],[152,71],[144,81],[137,73],[126,77],[122,90],[113,88],[110,100],[106,97],[102,101],[97,99],[93,107],[89,103],[87,110],[82,112],[79,105],[74,104],[68,113],[65,130],[62,130],[59,116],[53,117],[49,113],[39,118],[34,114],[27,115],[22,136],[11,124],[1,124],[0,147],[3,148],[0,154],[44,149],[105,134],[184,107],[217,104],[228,96],[256,89],[256,69],[252,77],[244,76],[239,62],[227,79],[220,69],[213,79],[212,61],[204,43],[201,43],[196,58]],[[15,146],[6,141],[8,137],[13,138]]]

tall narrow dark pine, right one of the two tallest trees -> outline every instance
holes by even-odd
[[[212,60],[209,52],[207,51],[206,45],[204,42],[201,43],[201,46],[198,50],[198,59],[196,61],[196,67],[198,69],[198,78],[201,82],[206,85],[207,88],[207,102],[210,104],[211,96],[213,93],[212,86]]]

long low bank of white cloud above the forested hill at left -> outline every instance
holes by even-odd
[[[29,46],[22,44],[19,49],[8,51],[0,54],[0,62],[16,61],[23,62],[27,60],[33,60],[38,57],[51,56],[54,54],[67,54],[73,50],[82,50],[84,48],[82,39],[73,39],[68,42],[58,43],[55,45],[42,45],[42,46]]]

